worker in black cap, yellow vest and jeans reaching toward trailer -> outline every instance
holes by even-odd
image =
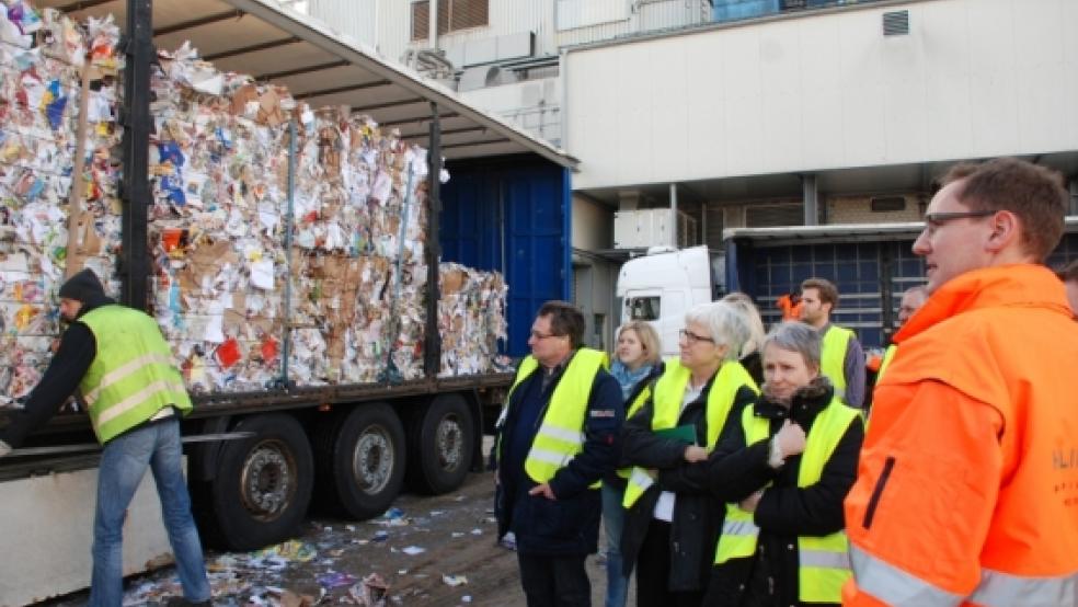
[[[191,399],[157,322],[105,296],[90,270],[59,290],[60,314],[71,325],[25,408],[0,431],[0,456],[45,424],[78,389],[103,445],[98,476],[90,605],[123,602],[123,528],[127,506],[146,473],[161,499],[162,518],[186,600],[209,605],[202,543],[183,478],[180,415]]]

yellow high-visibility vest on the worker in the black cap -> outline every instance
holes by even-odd
[[[79,318],[96,355],[79,383],[98,440],[107,443],[165,406],[182,414],[191,399],[172,365],[169,344],[149,316],[124,306],[102,306]]]

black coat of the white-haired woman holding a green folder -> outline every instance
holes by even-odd
[[[712,376],[708,380],[700,397],[689,403],[678,419],[678,425],[696,426],[698,445],[707,445],[708,442],[707,402],[714,379]],[[724,427],[730,426],[731,420],[741,419],[742,408],[755,399],[756,392],[742,387],[734,397]],[[626,421],[622,432],[622,459],[633,466],[658,470],[655,484],[626,513],[621,534],[623,571],[627,576],[632,573],[660,494],[673,491],[676,500],[670,522],[670,577],[667,587],[670,592],[702,591],[708,584],[725,508],[710,494],[707,462],[687,463],[685,443],[653,434],[653,415],[654,403],[649,399],[635,415]],[[692,473],[693,470],[696,473]]]

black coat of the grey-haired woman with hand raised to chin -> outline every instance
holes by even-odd
[[[790,416],[805,433],[816,415],[832,401],[834,388],[819,378],[803,388],[789,410],[760,397],[756,415],[770,420],[775,436]],[[729,432],[708,461],[708,482],[714,495],[738,503],[757,490],[764,491],[754,522],[760,528],[756,554],[716,565],[704,605],[723,607],[801,605],[798,600],[798,536],[826,536],[845,527],[842,500],[853,486],[858,454],[864,430],[857,417],[824,466],[819,482],[800,489],[801,456],[792,456],[778,470],[768,465],[770,440],[745,446],[741,419],[726,425]],[[812,604],[819,605],[819,604]]]

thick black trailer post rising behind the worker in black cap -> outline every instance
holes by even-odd
[[[149,179],[150,70],[154,60],[153,2],[127,0],[127,32],[124,41],[123,241],[119,261],[121,302],[146,310],[149,305],[148,209],[152,191]],[[81,150],[80,152],[81,153]]]

